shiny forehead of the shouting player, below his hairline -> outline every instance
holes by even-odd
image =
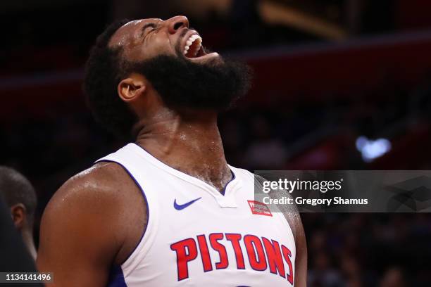
[[[133,37],[137,37],[144,25],[161,21],[163,20],[158,18],[147,18],[125,23],[125,25],[118,28],[118,30],[112,35],[111,40],[109,41],[109,46],[123,46],[127,42],[130,42]]]

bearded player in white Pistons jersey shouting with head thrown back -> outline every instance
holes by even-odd
[[[132,143],[47,205],[37,265],[55,286],[306,286],[299,215],[254,202],[253,174],[223,153],[217,115],[249,69],[201,44],[183,16],[121,21],[96,40],[89,106]]]

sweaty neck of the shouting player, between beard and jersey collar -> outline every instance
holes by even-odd
[[[232,179],[217,127],[208,112],[179,115],[164,110],[139,122],[137,144],[166,165],[205,181],[218,191]]]

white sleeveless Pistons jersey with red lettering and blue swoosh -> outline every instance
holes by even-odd
[[[147,203],[148,224],[108,286],[293,286],[295,243],[280,212],[254,201],[254,175],[230,166],[224,194],[136,144],[117,162]]]

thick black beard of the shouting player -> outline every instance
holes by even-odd
[[[249,91],[251,69],[244,63],[213,58],[207,63],[193,63],[183,56],[156,56],[132,63],[151,82],[168,108],[230,108]]]

